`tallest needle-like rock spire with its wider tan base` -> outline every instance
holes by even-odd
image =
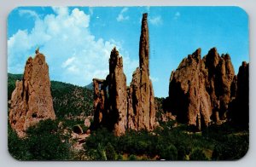
[[[143,14],[139,48],[139,67],[133,73],[130,85],[132,115],[128,124],[134,124],[135,130],[153,130],[155,124],[154,90],[149,79],[149,41],[148,14]],[[133,123],[129,123],[129,122]]]

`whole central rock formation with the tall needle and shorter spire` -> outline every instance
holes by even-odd
[[[149,42],[147,14],[143,14],[140,37],[140,66],[126,89],[123,60],[114,48],[106,79],[93,79],[95,128],[103,125],[122,135],[125,130],[153,130],[155,124],[154,91],[149,79]],[[108,88],[108,89],[107,89]]]

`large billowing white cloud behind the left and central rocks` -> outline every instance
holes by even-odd
[[[22,73],[27,57],[34,55],[39,47],[46,56],[51,79],[86,85],[92,78],[106,78],[110,52],[114,46],[122,50],[120,43],[96,39],[89,29],[90,15],[79,9],[54,8],[54,11],[55,14],[38,17],[32,31],[19,30],[9,37],[8,71]],[[129,83],[138,62],[131,60],[125,50],[122,53]]]

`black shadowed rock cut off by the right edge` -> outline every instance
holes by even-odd
[[[236,78],[234,78],[235,80]],[[249,63],[243,61],[237,74],[236,98],[230,103],[230,115],[234,124],[247,129],[249,126]]]

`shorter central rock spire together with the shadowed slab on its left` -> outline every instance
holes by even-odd
[[[123,72],[123,59],[116,48],[111,51],[107,78],[94,78],[93,86],[95,128],[102,125],[113,130],[115,135],[125,134],[127,126],[126,77]]]

